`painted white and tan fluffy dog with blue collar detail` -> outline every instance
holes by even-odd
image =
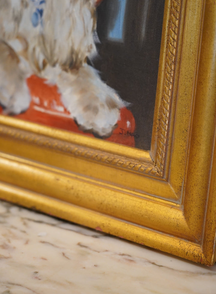
[[[124,102],[86,58],[96,48],[96,0],[0,0],[0,103],[19,114],[30,104],[26,78],[56,84],[82,130],[111,134]]]

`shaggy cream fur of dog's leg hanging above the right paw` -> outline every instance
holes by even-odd
[[[96,50],[96,0],[46,0],[38,45],[49,65],[79,68]]]

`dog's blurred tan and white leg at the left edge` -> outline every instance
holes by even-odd
[[[15,51],[0,41],[0,104],[6,114],[19,114],[30,104],[27,74]]]

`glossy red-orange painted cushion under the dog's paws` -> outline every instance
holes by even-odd
[[[93,137],[91,133],[79,130],[70,113],[64,108],[57,86],[45,84],[44,80],[36,75],[27,79],[27,85],[32,96],[31,104],[26,112],[16,117]],[[105,140],[134,147],[133,114],[127,108],[122,108],[120,115],[117,128]]]

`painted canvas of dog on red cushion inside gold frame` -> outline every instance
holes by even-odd
[[[0,0],[0,113],[150,148],[164,1]]]

